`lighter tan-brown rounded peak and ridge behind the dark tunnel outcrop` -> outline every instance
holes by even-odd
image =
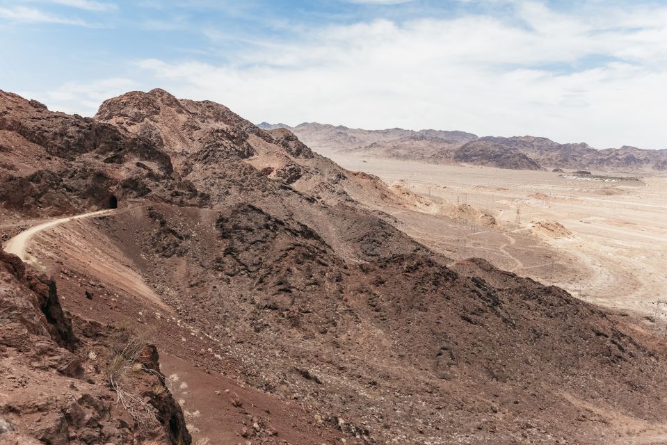
[[[176,99],[159,89],[129,92],[106,100],[95,121],[113,124],[169,152],[175,172],[205,190],[211,205],[237,199],[230,187],[239,185],[258,199],[271,191],[272,201],[276,195],[290,199],[292,193],[280,191],[286,185],[328,204],[384,193],[380,181],[369,184],[351,175],[314,154],[290,131],[264,131],[214,102]],[[225,169],[224,177],[220,168]]]

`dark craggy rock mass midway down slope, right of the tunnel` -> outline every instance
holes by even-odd
[[[310,227],[241,204],[221,213],[216,229],[221,254],[215,259],[214,270],[232,279],[254,280],[258,305],[279,312],[296,311],[310,300],[310,291],[317,289],[332,298],[316,303],[319,309],[313,314],[321,314],[319,305],[339,300],[339,289],[328,288],[336,288],[341,261]]]

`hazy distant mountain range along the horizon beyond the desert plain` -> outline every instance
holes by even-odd
[[[471,163],[515,170],[667,170],[667,149],[650,150],[627,145],[595,149],[586,143],[559,144],[534,136],[479,137],[465,131],[400,128],[364,130],[316,122],[296,127],[262,122],[258,127],[289,129],[303,143],[324,155],[337,153],[434,163]]]

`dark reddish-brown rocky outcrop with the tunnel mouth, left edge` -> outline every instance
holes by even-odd
[[[26,214],[79,213],[150,195],[184,202],[170,156],[142,136],[0,91],[0,202]]]

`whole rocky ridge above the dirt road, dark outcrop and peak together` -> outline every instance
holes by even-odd
[[[95,119],[0,91],[0,169],[4,207],[32,215],[133,198],[210,206],[238,200],[230,188],[239,186],[257,199],[270,192],[271,202],[294,191],[329,204],[392,195],[378,179],[313,154],[289,131],[270,134],[220,104],[179,101],[163,90],[110,99]]]

